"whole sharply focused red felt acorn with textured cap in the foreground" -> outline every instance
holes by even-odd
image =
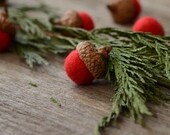
[[[91,83],[103,78],[106,72],[106,58],[111,47],[96,48],[88,41],[77,45],[65,59],[64,68],[72,81],[78,85]]]

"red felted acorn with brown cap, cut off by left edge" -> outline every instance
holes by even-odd
[[[12,24],[4,13],[0,14],[0,52],[6,51],[12,44],[15,25]]]

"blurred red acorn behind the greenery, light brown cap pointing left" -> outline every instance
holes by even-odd
[[[77,12],[75,10],[67,11],[59,20],[54,20],[54,24],[78,27],[85,30],[92,30],[95,27],[93,19],[87,12]]]

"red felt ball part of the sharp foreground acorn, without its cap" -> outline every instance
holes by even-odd
[[[68,77],[78,85],[89,84],[94,79],[77,50],[73,50],[66,57],[64,68]]]

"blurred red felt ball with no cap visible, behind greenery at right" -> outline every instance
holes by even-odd
[[[153,17],[143,17],[137,20],[133,26],[135,32],[150,32],[153,35],[164,36],[162,25]]]

